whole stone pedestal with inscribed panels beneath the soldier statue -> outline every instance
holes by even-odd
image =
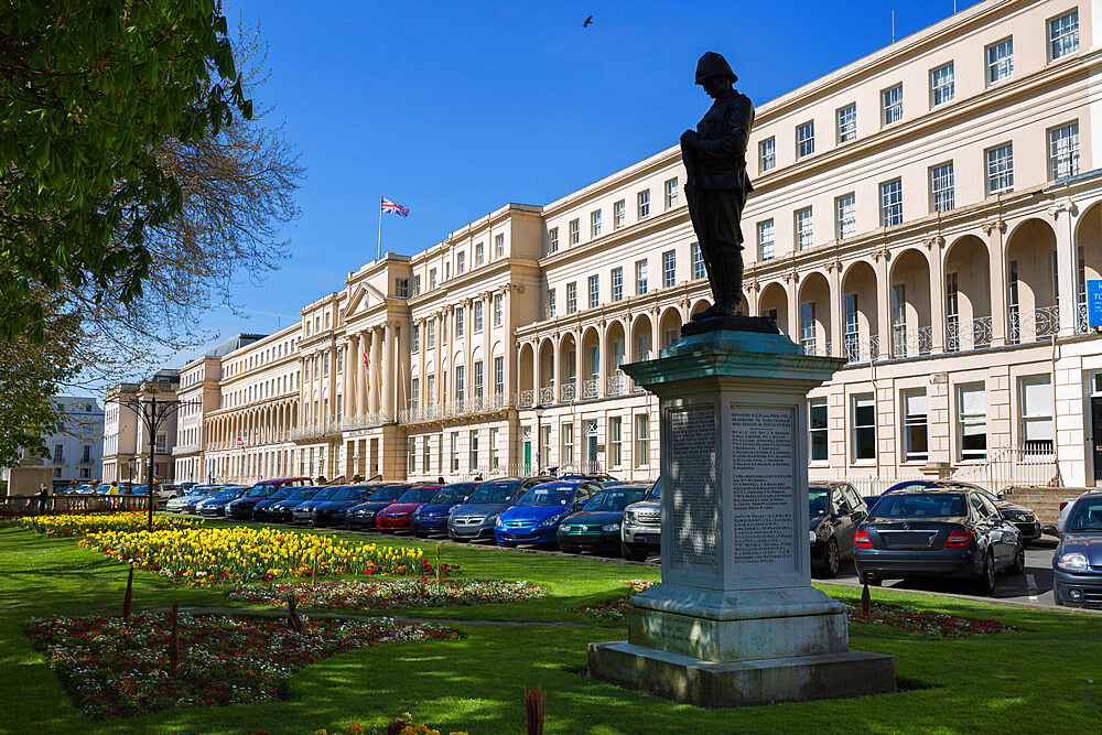
[[[851,651],[810,584],[807,393],[842,363],[712,332],[624,366],[660,399],[662,581],[626,642],[590,645],[591,675],[705,706],[895,689],[894,659]]]

